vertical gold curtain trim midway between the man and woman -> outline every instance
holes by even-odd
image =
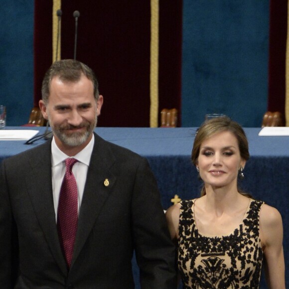
[[[158,0],[150,0],[150,112],[149,124],[157,128],[158,119]]]

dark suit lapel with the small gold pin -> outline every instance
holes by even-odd
[[[95,143],[79,213],[74,257],[71,266],[73,266],[84,246],[102,206],[114,186],[116,177],[110,171],[110,167],[115,161],[115,157],[108,148],[107,143],[95,134]]]

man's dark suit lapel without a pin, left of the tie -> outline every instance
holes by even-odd
[[[29,160],[31,173],[26,178],[26,184],[35,215],[51,253],[63,274],[66,275],[67,268],[58,239],[53,204],[51,142],[47,142],[47,144],[43,145],[43,148],[39,149],[37,159]]]

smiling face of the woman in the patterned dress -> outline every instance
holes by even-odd
[[[236,183],[238,170],[245,166],[237,138],[231,132],[221,132],[205,140],[200,146],[196,166],[206,185],[213,188]]]

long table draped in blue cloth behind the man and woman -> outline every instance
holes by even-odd
[[[45,128],[32,129],[43,133]],[[259,137],[261,128],[244,129],[249,141],[250,159],[240,182],[243,190],[255,199],[276,207],[284,223],[284,253],[289,271],[289,137]],[[96,128],[95,132],[107,141],[127,147],[149,161],[157,179],[164,209],[171,199],[192,199],[199,196],[201,182],[191,163],[191,150],[196,128]],[[0,141],[0,162],[3,158],[42,144],[24,141]],[[289,277],[287,277],[289,286]],[[263,288],[263,287],[261,287]]]

